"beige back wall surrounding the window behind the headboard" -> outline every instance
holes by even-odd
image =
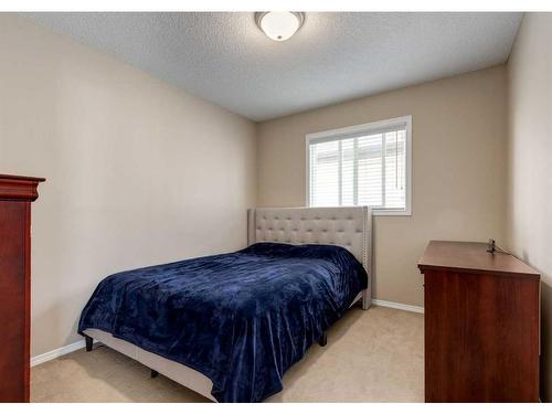
[[[413,214],[378,216],[374,297],[423,305],[416,262],[437,240],[502,240],[505,66],[262,123],[258,203],[305,204],[305,135],[412,115]]]

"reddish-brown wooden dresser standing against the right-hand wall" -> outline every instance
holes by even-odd
[[[431,242],[425,401],[538,402],[540,275],[486,243]]]

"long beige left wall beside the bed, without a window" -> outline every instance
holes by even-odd
[[[32,354],[79,339],[106,275],[246,243],[255,125],[0,14],[0,172],[33,204]]]

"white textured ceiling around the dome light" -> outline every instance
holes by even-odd
[[[308,12],[286,42],[253,12],[31,13],[253,120],[501,64],[521,13]]]

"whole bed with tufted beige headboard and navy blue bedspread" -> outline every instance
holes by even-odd
[[[105,278],[78,331],[212,401],[259,402],[371,298],[368,208],[252,209],[248,247]]]

